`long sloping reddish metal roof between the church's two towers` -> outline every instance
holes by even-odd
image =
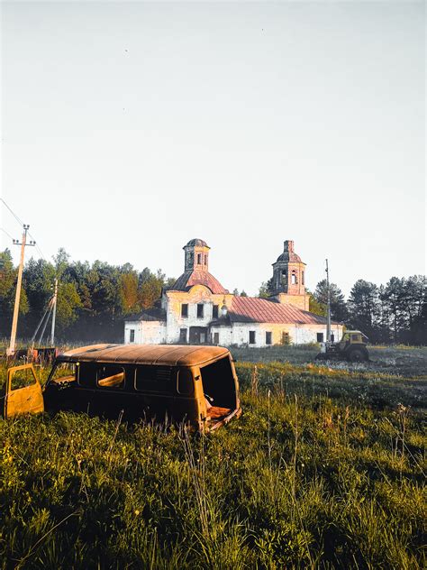
[[[324,325],[326,318],[294,305],[284,305],[258,297],[234,297],[228,315],[235,323],[295,323]]]

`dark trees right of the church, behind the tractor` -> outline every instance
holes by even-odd
[[[268,297],[272,282],[261,285]],[[310,294],[310,311],[326,316],[328,289],[320,281]],[[427,280],[423,275],[392,277],[386,285],[359,279],[348,299],[336,283],[330,284],[332,320],[361,330],[373,344],[427,345]]]

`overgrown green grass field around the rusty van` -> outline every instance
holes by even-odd
[[[243,415],[206,437],[0,420],[3,567],[425,567],[427,350],[232,353]]]

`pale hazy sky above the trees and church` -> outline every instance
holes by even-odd
[[[1,10],[2,197],[48,259],[177,277],[201,237],[255,294],[293,239],[311,289],[325,257],[346,293],[425,272],[423,2]]]

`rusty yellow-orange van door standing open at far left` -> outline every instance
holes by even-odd
[[[13,366],[7,371],[5,418],[44,411],[41,383],[32,364]]]

